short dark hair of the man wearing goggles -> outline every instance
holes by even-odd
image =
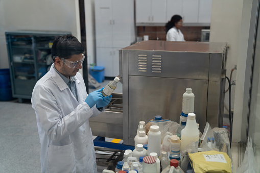
[[[51,52],[52,57],[58,56],[60,58],[69,59],[73,55],[83,54],[85,49],[76,37],[67,34],[55,37]]]

